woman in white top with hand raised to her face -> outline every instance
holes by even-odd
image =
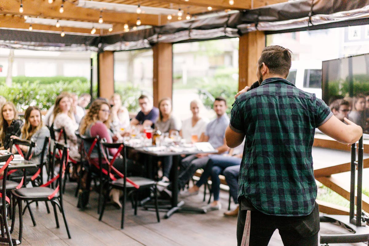
[[[118,93],[114,93],[110,98],[111,105],[111,125],[115,133],[119,133],[121,128],[128,129],[130,126],[130,115],[127,108],[122,105],[122,100]]]

